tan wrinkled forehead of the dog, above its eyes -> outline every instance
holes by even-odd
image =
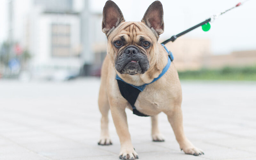
[[[141,40],[156,42],[157,36],[156,32],[142,22],[122,22],[108,35],[108,39],[112,42],[122,39],[126,44],[136,44]]]

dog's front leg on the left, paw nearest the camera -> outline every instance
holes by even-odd
[[[111,110],[112,118],[116,127],[116,132],[119,136],[119,140],[121,143],[121,151],[119,154],[119,158],[120,159],[138,158],[138,154],[135,152],[132,146],[131,136],[128,130],[125,107],[110,105],[110,110]]]

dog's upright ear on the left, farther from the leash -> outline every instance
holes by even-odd
[[[107,1],[103,8],[102,31],[107,34],[124,21],[123,14],[113,1]]]

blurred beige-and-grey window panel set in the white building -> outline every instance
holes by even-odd
[[[52,56],[70,56],[70,25],[52,24]]]

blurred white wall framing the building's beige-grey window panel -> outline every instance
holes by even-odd
[[[60,66],[80,68],[81,62],[78,57],[52,57],[51,26],[52,23],[69,24],[71,54],[80,45],[80,18],[77,15],[67,14],[44,14],[31,19],[31,52],[33,54],[33,66]]]

